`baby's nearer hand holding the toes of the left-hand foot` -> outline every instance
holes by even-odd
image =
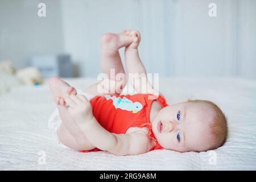
[[[88,122],[93,118],[92,106],[85,96],[71,95],[65,98],[68,113],[78,125]]]

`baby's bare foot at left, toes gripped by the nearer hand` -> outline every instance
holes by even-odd
[[[64,98],[70,95],[76,95],[76,89],[73,86],[70,86],[67,82],[61,80],[58,77],[52,77],[49,80],[49,87],[51,89],[53,99],[57,105],[64,106]]]

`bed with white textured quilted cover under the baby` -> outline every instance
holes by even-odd
[[[95,78],[64,78],[86,88]],[[228,117],[229,137],[214,151],[155,150],[142,155],[80,153],[57,144],[47,121],[55,104],[48,80],[0,95],[1,170],[255,170],[256,81],[240,78],[160,78],[168,104],[190,99],[216,102]]]

